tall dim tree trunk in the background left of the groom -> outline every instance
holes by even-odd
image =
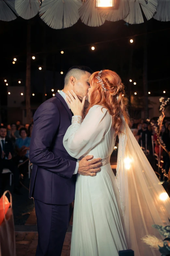
[[[27,63],[26,63],[26,84],[25,84],[25,101],[26,101],[26,119],[31,123],[31,104],[30,104],[30,85],[31,85],[31,24],[27,23]]]

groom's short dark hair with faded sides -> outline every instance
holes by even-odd
[[[73,66],[69,68],[67,74],[64,77],[64,86],[68,85],[71,76],[79,79],[79,77],[84,75],[86,72],[89,72],[90,74],[93,73],[92,69],[86,66]]]

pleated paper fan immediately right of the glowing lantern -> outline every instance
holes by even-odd
[[[100,15],[105,18],[107,21],[119,21],[123,20],[129,14],[129,1],[120,0],[119,6],[117,9],[105,9],[100,10]]]

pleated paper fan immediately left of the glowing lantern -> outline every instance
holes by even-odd
[[[80,19],[87,26],[98,27],[105,23],[105,19],[101,17],[97,8],[95,8],[94,0],[86,0],[79,9]]]

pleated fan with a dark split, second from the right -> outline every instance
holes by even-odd
[[[148,4],[146,2],[145,0],[129,0],[130,12],[124,21],[129,24],[143,23],[144,19],[140,6],[147,20],[150,20],[156,12],[158,0],[148,0]]]

